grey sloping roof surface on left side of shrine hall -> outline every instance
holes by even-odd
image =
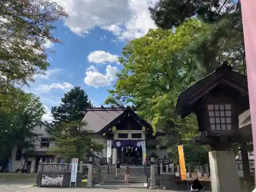
[[[108,125],[111,121],[123,113],[123,109],[111,108],[92,108],[89,109],[83,118],[83,122],[87,122],[83,126],[85,130],[92,133],[98,133],[104,126]]]

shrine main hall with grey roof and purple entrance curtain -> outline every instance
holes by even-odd
[[[146,154],[154,152],[159,158],[167,157],[166,147],[158,147],[158,136],[164,136],[162,130],[154,133],[150,123],[140,118],[136,111],[126,108],[89,108],[84,116],[83,126],[92,134],[92,142],[102,144],[103,150],[98,155],[107,158],[107,143],[111,141],[112,163],[143,166],[141,141],[145,141]],[[109,154],[110,155],[110,154]]]

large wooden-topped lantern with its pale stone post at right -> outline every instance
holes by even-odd
[[[239,114],[248,109],[247,76],[233,71],[227,61],[178,97],[176,113],[181,118],[196,114],[200,136],[195,140],[211,147],[212,192],[240,191],[236,159],[228,149],[244,141]]]

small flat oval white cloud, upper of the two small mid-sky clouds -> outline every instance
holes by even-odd
[[[89,53],[87,57],[89,62],[94,62],[94,63],[106,63],[106,62],[117,62],[118,61],[118,56],[117,55],[112,55],[111,53],[106,53],[105,51],[93,51]]]

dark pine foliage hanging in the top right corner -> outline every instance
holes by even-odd
[[[246,73],[240,1],[160,0],[150,10],[156,25],[163,29],[174,29],[192,16],[212,25],[213,30],[197,42],[195,57],[201,66],[210,72],[225,59]]]

